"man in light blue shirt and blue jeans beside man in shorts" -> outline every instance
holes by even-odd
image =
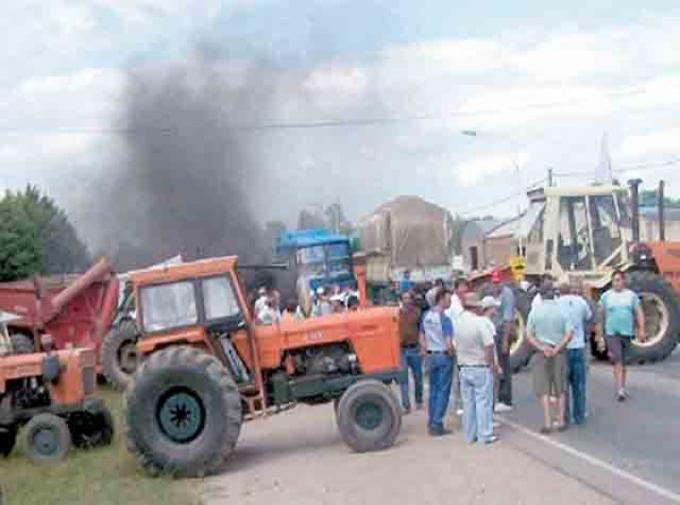
[[[574,424],[583,424],[586,416],[585,329],[593,313],[588,302],[568,283],[561,283],[559,290],[560,297],[557,303],[573,333],[567,345],[567,382],[570,393],[567,398],[571,404],[567,405],[566,410],[571,414]]]

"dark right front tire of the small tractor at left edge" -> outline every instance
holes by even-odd
[[[99,398],[85,400],[83,410],[69,416],[68,427],[73,445],[80,449],[109,445],[113,440],[113,418]]]

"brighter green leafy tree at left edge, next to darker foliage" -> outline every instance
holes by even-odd
[[[41,270],[42,247],[35,224],[17,198],[0,200],[0,281],[28,277]]]

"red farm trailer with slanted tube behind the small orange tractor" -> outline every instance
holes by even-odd
[[[118,294],[118,278],[108,260],[102,259],[82,275],[0,283],[0,310],[21,316],[8,324],[17,352],[39,351],[47,334],[57,349],[86,347],[100,356]]]

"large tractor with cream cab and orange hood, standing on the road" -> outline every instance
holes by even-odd
[[[533,287],[546,275],[583,284],[595,309],[610,287],[612,273],[623,270],[628,287],[640,295],[645,313],[646,340],[633,340],[630,361],[662,360],[675,349],[680,336],[680,243],[640,242],[640,182],[630,181],[629,188],[547,187],[529,193],[530,205],[519,234],[522,275],[532,287],[516,290],[517,331],[510,350],[513,370],[525,366],[533,354],[525,339],[524,321]],[[663,198],[659,201],[663,238]],[[512,271],[517,268],[508,270],[509,277]],[[592,350],[597,357],[606,356],[594,342]]]

